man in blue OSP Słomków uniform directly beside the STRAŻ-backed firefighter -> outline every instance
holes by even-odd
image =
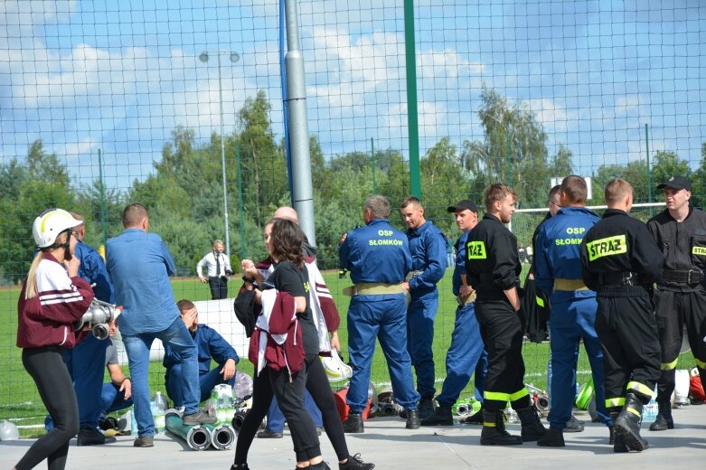
[[[576,352],[583,340],[596,390],[599,419],[612,427],[606,411],[603,351],[596,334],[596,292],[581,275],[580,243],[598,221],[586,209],[586,181],[577,175],[564,178],[561,209],[541,224],[535,246],[534,279],[542,292],[551,293],[551,409],[550,430],[537,441],[542,447],[564,447],[564,428],[571,418],[576,393]]]

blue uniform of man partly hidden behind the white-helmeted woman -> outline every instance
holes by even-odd
[[[110,304],[115,302],[113,284],[99,252],[78,241],[74,255],[80,259],[79,276],[93,287],[96,298]],[[64,351],[64,362],[79,401],[81,428],[98,428],[107,348],[108,341],[100,341],[93,334],[87,334],[74,348]]]

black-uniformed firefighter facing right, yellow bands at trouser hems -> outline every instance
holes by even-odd
[[[475,287],[475,315],[488,351],[481,445],[515,445],[536,441],[547,432],[532,408],[524,386],[522,319],[518,276],[522,265],[517,239],[504,227],[515,211],[517,195],[505,184],[485,188],[483,220],[466,242],[466,276]],[[522,435],[504,427],[503,410],[510,401],[522,421]]]

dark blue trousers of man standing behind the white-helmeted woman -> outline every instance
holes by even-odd
[[[75,347],[64,351],[64,362],[79,402],[81,428],[98,428],[107,347],[108,341],[100,341],[93,334],[88,334]]]

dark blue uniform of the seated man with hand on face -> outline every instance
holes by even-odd
[[[221,334],[206,324],[199,324],[195,333],[189,332],[193,337],[193,343],[196,343],[198,351],[197,360],[199,362],[199,384],[201,385],[201,400],[208,400],[211,395],[211,390],[220,384],[227,383],[231,387],[235,384],[235,376],[231,380],[224,381],[221,369],[225,362],[232,359],[236,363],[240,361],[238,353],[235,352],[231,344],[223,339]],[[211,369],[211,360],[217,363],[216,367]],[[174,407],[178,408],[184,405],[182,395],[182,361],[177,353],[174,353],[169,344],[165,344],[165,359],[162,365],[166,368],[165,387],[166,394],[172,401]]]

